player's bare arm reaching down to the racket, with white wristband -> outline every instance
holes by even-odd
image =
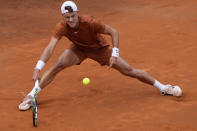
[[[33,72],[33,76],[32,76],[33,81],[40,79],[40,71],[44,67],[45,63],[47,63],[47,61],[52,56],[58,41],[59,40],[57,38],[51,37],[49,44],[45,47],[45,49],[40,57],[40,60],[38,60],[36,67],[34,68],[34,72]]]

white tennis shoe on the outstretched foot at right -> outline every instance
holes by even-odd
[[[164,90],[160,91],[161,95],[181,96],[182,90],[179,86],[166,85]]]

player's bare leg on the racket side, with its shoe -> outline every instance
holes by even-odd
[[[81,54],[83,55],[83,54]],[[59,57],[58,61],[41,77],[39,87],[43,89],[46,87],[61,70],[80,63],[85,57],[78,57],[72,49],[65,50]],[[31,92],[24,98],[23,102],[18,106],[19,110],[28,110],[32,106]]]

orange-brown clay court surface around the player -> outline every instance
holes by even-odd
[[[75,0],[81,14],[119,31],[122,58],[164,84],[179,85],[183,96],[161,96],[87,59],[42,90],[34,128],[32,111],[19,111],[18,104],[33,87],[33,69],[61,19],[62,2],[0,0],[1,131],[197,131],[196,0]],[[43,71],[69,45],[63,38]],[[91,79],[87,87],[84,77]]]

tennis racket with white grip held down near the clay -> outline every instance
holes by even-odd
[[[38,80],[35,82],[35,87],[38,86]],[[33,113],[33,126],[36,127],[37,126],[37,88],[35,89],[35,93],[33,96],[33,107],[32,107],[32,113]]]

